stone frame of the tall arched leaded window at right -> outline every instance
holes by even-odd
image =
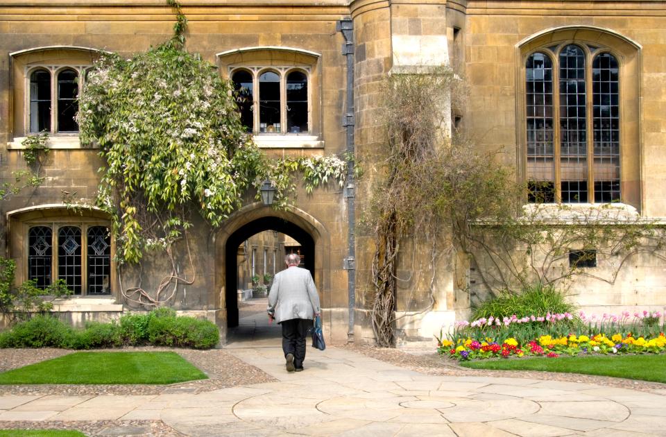
[[[527,59],[533,53],[547,53],[552,61],[553,71],[558,69],[558,55],[563,47],[574,44],[583,49],[586,55],[586,142],[588,157],[593,158],[594,137],[592,126],[592,62],[600,53],[612,54],[619,65],[619,93],[620,93],[620,203],[631,205],[640,209],[643,204],[640,187],[640,174],[642,162],[641,139],[640,139],[640,55],[642,47],[640,44],[629,40],[606,28],[594,26],[561,26],[547,29],[527,37],[516,44],[516,105],[518,126],[516,129],[518,142],[518,169],[520,180],[527,182]],[[553,125],[554,131],[559,129],[559,92],[556,76],[553,78]],[[554,148],[557,150],[558,135],[554,135]],[[559,155],[554,155],[555,171],[558,171],[560,163]],[[593,159],[588,160],[588,166],[592,166]],[[588,180],[592,173],[588,172]],[[557,176],[553,182],[558,180]],[[593,184],[593,182],[592,182]],[[595,205],[593,196],[594,187],[588,182],[588,203],[577,203],[578,205]],[[561,203],[560,187],[556,188],[554,203]],[[527,199],[526,199],[527,201]],[[574,205],[574,203],[567,203]],[[603,205],[603,203],[596,203]]]

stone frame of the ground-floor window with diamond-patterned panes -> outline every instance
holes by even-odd
[[[83,210],[81,214],[67,209],[60,204],[27,207],[7,214],[10,256],[16,262],[16,284],[22,284],[29,279],[28,255],[30,253],[28,232],[31,228],[44,226],[51,228],[51,283],[58,280],[58,231],[64,227],[76,227],[81,233],[81,292],[72,295],[73,298],[115,298],[118,290],[117,262],[115,261],[115,239],[110,237],[110,268],[109,292],[88,293],[88,252],[87,231],[94,226],[103,226],[111,229],[111,221],[105,214],[97,209]]]

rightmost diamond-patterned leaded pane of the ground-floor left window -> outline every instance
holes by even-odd
[[[106,226],[87,232],[88,294],[110,294],[111,236]]]

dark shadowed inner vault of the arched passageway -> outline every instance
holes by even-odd
[[[312,277],[315,277],[315,250],[314,250],[314,239],[312,236],[307,233],[305,230],[300,228],[298,225],[295,225],[284,218],[276,216],[266,216],[262,218],[257,218],[255,221],[246,223],[241,226],[236,232],[231,234],[227,239],[226,248],[225,248],[225,300],[226,300],[226,309],[227,309],[227,326],[235,327],[238,326],[239,317],[238,317],[238,293],[237,293],[237,284],[238,284],[238,268],[237,268],[237,250],[238,246],[241,245],[244,241],[249,239],[259,232],[266,230],[273,230],[275,232],[280,232],[282,234],[289,235],[289,237],[295,239],[300,243],[300,251],[302,253],[305,268],[307,268]],[[280,261],[281,262],[281,261]],[[281,265],[281,264],[280,264]],[[282,268],[279,268],[282,270]]]

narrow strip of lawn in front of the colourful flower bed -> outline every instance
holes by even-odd
[[[473,369],[585,373],[666,383],[666,355],[664,354],[477,360],[463,361],[460,365]]]

